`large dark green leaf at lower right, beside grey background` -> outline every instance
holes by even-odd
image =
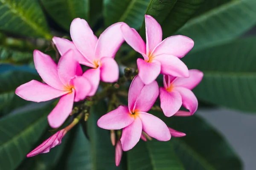
[[[187,170],[242,170],[239,157],[226,140],[207,122],[194,115],[166,117],[162,112],[150,111],[169,127],[186,133],[172,138],[177,156]]]

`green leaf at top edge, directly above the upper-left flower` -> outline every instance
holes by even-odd
[[[62,28],[69,31],[75,18],[88,20],[89,0],[41,0],[47,13]]]

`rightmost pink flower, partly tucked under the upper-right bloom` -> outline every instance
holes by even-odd
[[[189,70],[189,77],[163,76],[164,88],[160,88],[160,102],[163,113],[173,116],[183,105],[194,114],[198,108],[198,100],[191,91],[197,86],[204,74],[199,70]]]

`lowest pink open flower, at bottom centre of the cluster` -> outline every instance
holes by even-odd
[[[136,76],[129,89],[128,107],[119,106],[105,114],[98,120],[98,126],[108,130],[123,128],[121,143],[124,151],[130,150],[139,142],[142,130],[157,140],[170,140],[171,135],[166,124],[156,116],[146,113],[154,105],[158,94],[156,81],[145,85]]]

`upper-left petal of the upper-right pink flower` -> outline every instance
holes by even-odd
[[[127,24],[122,24],[121,30],[127,44],[129,44],[138,53],[146,54],[145,42],[136,30],[130,28]]]

